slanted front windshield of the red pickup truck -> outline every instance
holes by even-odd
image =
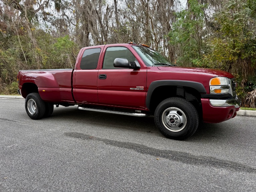
[[[166,58],[164,58],[160,53],[153,49],[143,47],[143,46],[132,46],[132,48],[138,53],[140,58],[147,66],[175,66]]]

